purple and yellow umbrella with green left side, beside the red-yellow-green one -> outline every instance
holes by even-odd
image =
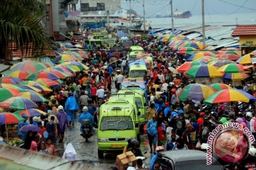
[[[214,93],[215,91],[207,85],[192,83],[186,85],[185,88],[180,91],[178,97],[182,101],[186,101],[187,99],[201,101],[203,99],[207,99],[207,97]]]

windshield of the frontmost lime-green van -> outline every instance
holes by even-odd
[[[100,130],[134,130],[131,116],[104,116]]]

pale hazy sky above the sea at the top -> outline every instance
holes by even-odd
[[[100,1],[100,0],[97,0]],[[130,0],[121,0],[121,8],[129,9]],[[173,10],[189,10],[193,15],[201,15],[202,0],[173,0]],[[131,0],[131,8],[143,15],[143,0]],[[77,9],[80,8],[80,0]],[[255,13],[256,0],[204,0],[205,14]],[[171,12],[170,0],[145,0],[146,17],[154,17],[157,12],[165,15]],[[254,17],[254,16],[253,16]]]

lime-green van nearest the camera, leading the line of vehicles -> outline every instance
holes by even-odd
[[[140,138],[140,120],[133,96],[111,96],[99,108],[98,157],[122,151],[130,137]]]

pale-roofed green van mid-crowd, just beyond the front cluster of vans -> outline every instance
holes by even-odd
[[[130,79],[143,79],[145,71],[148,71],[145,65],[131,65],[129,67]]]

